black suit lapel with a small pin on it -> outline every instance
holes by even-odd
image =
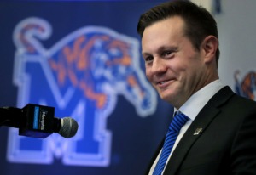
[[[175,174],[177,172],[191,146],[201,137],[201,133],[207,130],[207,126],[214,117],[220,113],[218,106],[224,104],[233,94],[229,87],[224,87],[210,99],[198,116],[196,116],[195,121],[191,123],[179,144],[177,144],[170,161],[166,165],[164,175]]]

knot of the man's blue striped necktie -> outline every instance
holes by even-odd
[[[183,113],[177,113],[170,124],[169,130],[179,132],[183,125],[189,120],[189,117]]]

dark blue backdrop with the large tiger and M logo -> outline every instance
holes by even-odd
[[[45,104],[79,122],[68,139],[0,127],[1,174],[145,173],[172,116],[144,76],[137,35],[158,3],[0,3],[0,106]]]

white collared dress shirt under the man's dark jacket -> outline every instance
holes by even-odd
[[[224,85],[220,80],[216,80],[214,82],[211,82],[207,84],[204,88],[201,88],[199,91],[194,93],[179,109],[184,115],[189,117],[189,121],[185,123],[185,125],[181,128],[180,133],[177,136],[177,139],[175,141],[175,144],[173,145],[172,152],[175,150],[178,142],[183,137],[183,134],[187,131],[191,123],[195,120],[195,117],[198,115],[198,113],[201,111],[201,109],[207,104],[209,99],[212,98],[212,96],[217,93],[221,88],[224,88]],[[174,109],[175,111],[177,109]],[[168,157],[169,161],[170,157],[172,156],[172,152]],[[160,151],[161,153],[161,151]],[[160,158],[160,154],[157,156],[156,160],[154,161],[154,164],[152,165],[149,175],[152,175],[154,172],[154,167],[157,164],[157,161]],[[167,164],[167,163],[166,163]],[[166,167],[165,167],[166,168]],[[163,171],[164,172],[164,171]]]

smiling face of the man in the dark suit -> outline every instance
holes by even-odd
[[[203,54],[184,36],[184,22],[171,17],[148,26],[142,38],[146,76],[161,99],[177,109],[204,86]]]

